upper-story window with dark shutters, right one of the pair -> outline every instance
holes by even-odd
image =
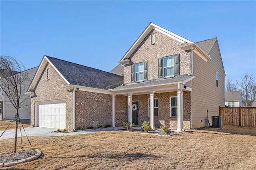
[[[158,58],[158,78],[180,75],[180,54]]]

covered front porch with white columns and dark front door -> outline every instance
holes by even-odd
[[[190,129],[191,88],[184,87],[175,83],[115,93],[112,95],[113,127],[126,121],[140,127],[143,121],[148,121],[153,130],[165,125],[177,131]]]

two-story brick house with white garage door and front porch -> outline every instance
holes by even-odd
[[[112,74],[45,55],[28,89],[31,125],[71,130],[150,121],[153,129],[180,131],[205,127],[207,110],[211,123],[224,106],[217,38],[195,43],[150,23],[119,63]]]

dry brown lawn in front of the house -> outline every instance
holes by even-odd
[[[121,170],[256,167],[256,128],[205,128],[168,137],[105,131],[85,135],[29,138],[34,148],[44,153],[43,158],[12,168]],[[25,138],[23,142],[24,140]],[[0,152],[12,150],[13,139],[0,142]],[[24,149],[28,148],[30,146],[25,142]]]

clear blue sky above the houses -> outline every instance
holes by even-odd
[[[256,76],[256,1],[0,1],[0,54],[27,69],[43,55],[110,71],[150,22],[218,38],[226,78]]]

